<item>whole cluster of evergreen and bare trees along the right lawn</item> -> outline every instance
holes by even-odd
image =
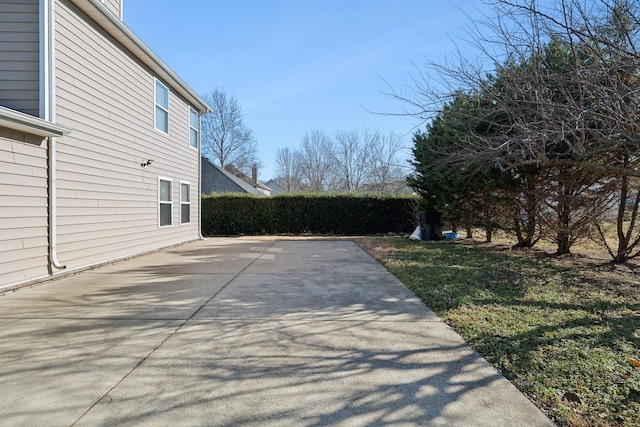
[[[502,228],[519,247],[544,237],[565,254],[592,237],[616,262],[638,256],[639,2],[491,4],[477,40],[492,73],[429,63],[437,85],[419,71],[412,91],[393,93],[430,118],[410,185],[425,209],[488,240]]]

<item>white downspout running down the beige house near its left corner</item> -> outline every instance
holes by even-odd
[[[41,29],[41,61],[42,61],[42,84],[40,93],[44,96],[44,112],[43,118],[51,123],[56,121],[56,103],[55,103],[55,0],[43,0],[42,8],[42,29]],[[51,270],[64,270],[66,265],[58,261],[57,254],[57,205],[56,205],[56,137],[49,138],[48,146],[48,198],[49,198],[49,264]]]

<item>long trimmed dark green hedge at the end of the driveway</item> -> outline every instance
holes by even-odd
[[[411,233],[417,206],[415,196],[214,194],[202,197],[202,234]]]

